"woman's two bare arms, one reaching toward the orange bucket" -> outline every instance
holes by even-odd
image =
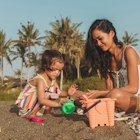
[[[119,88],[125,92],[136,94],[138,91],[138,84],[139,84],[139,76],[138,76],[138,61],[139,56],[136,51],[128,47],[125,51],[125,60],[127,64],[127,71],[128,71],[128,85]],[[99,91],[99,90],[89,90],[87,93],[88,98],[97,98],[100,96],[106,96],[112,89],[113,89],[113,81],[111,80],[110,76],[106,78],[106,87],[107,90]]]

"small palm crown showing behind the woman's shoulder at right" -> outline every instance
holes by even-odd
[[[123,43],[126,45],[137,46],[137,42],[139,39],[136,38],[138,34],[131,34],[129,35],[127,31],[125,31],[125,35],[122,37]]]

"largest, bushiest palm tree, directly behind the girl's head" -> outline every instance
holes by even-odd
[[[50,49],[56,49],[67,57],[71,56],[71,51],[74,46],[74,38],[78,34],[78,27],[81,23],[71,23],[70,18],[61,18],[55,22],[50,23],[52,31],[47,31],[45,46]],[[79,45],[78,45],[79,46]],[[61,73],[63,77],[63,74]],[[62,88],[62,78],[60,82],[60,88]]]

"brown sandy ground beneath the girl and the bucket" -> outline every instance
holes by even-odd
[[[115,126],[91,129],[86,116],[76,113],[44,115],[44,123],[30,122],[17,116],[12,102],[0,102],[0,140],[136,140],[126,124],[115,121]]]

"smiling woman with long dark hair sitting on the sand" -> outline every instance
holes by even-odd
[[[88,31],[85,55],[94,70],[106,81],[106,90],[89,90],[88,98],[116,98],[116,107],[138,112],[140,95],[140,57],[133,47],[119,42],[113,24],[97,19]]]

